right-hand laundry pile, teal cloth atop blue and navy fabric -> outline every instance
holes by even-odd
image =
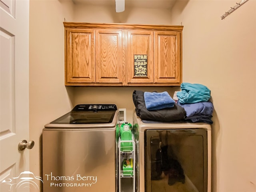
[[[182,83],[180,89],[177,92],[177,104],[185,109],[185,120],[212,124],[214,107],[209,101],[211,91],[202,84],[191,83]]]

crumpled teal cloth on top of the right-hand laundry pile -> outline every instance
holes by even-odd
[[[210,99],[211,91],[202,84],[182,83],[177,97],[181,104],[206,102]]]

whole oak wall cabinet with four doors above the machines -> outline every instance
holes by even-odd
[[[65,85],[180,86],[183,26],[64,22]]]

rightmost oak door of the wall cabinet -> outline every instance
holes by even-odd
[[[180,83],[180,36],[176,31],[154,32],[154,83]]]

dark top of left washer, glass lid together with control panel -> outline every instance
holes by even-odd
[[[50,124],[103,124],[111,123],[117,107],[114,104],[80,104]]]

